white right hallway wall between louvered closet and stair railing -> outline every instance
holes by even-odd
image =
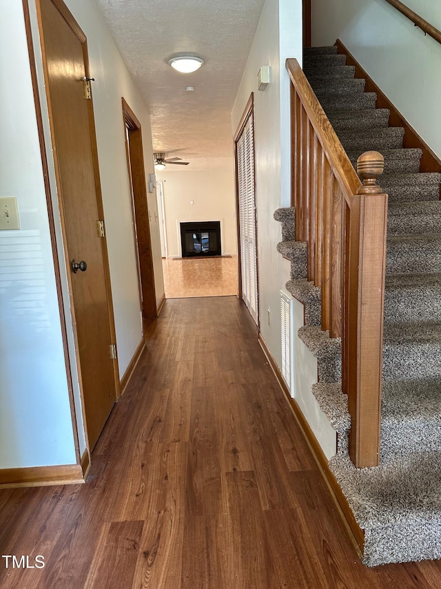
[[[302,1],[267,0],[234,103],[232,131],[236,132],[249,95],[254,92],[260,331],[279,366],[279,289],[289,279],[289,270],[276,251],[281,234],[273,213],[280,206],[289,206],[291,199],[287,57],[296,57],[300,63],[302,60]],[[265,92],[258,92],[257,73],[266,65],[271,66],[271,83]]]

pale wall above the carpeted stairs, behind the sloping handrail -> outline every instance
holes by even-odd
[[[441,29],[441,6],[405,0]],[[312,0],[312,43],[340,38],[384,94],[441,157],[441,45],[384,0]]]

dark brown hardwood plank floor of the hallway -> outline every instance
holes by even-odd
[[[439,588],[365,568],[236,297],[167,300],[85,485],[0,492],[2,589]]]

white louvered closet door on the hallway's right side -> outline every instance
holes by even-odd
[[[242,297],[252,318],[257,323],[256,191],[254,183],[254,130],[252,117],[248,117],[236,143]]]

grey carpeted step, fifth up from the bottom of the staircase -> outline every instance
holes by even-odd
[[[400,234],[387,238],[386,273],[441,272],[441,234]]]

